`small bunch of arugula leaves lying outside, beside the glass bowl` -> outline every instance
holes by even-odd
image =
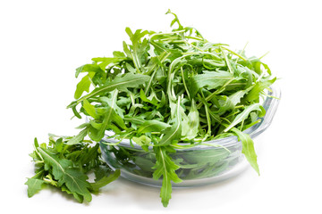
[[[56,139],[55,139],[56,138]],[[55,186],[72,194],[78,202],[91,202],[92,193],[120,176],[120,170],[113,172],[99,154],[99,144],[89,142],[67,144],[68,138],[49,136],[48,144],[34,141],[34,152],[30,153],[35,163],[36,175],[28,178],[28,196],[32,197],[45,186]],[[89,182],[89,173],[95,174],[95,181]]]

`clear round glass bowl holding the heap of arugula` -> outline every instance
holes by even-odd
[[[266,115],[260,118],[261,121],[256,125],[244,131],[253,140],[269,127],[278,107],[280,89],[275,84],[270,88],[268,95],[278,99],[267,97],[263,103],[267,111]],[[121,169],[121,177],[144,185],[162,185],[162,177],[159,180],[152,178],[154,172],[152,168],[156,163],[156,155],[152,147],[146,152],[140,145],[130,144],[128,139],[117,144],[118,140],[107,137],[108,133],[100,141],[102,156],[112,169]],[[197,145],[170,153],[174,163],[180,166],[180,169],[175,172],[182,179],[181,183],[173,183],[173,187],[213,184],[235,177],[250,166],[242,154],[242,142],[238,141],[236,136],[204,143],[221,146]],[[255,140],[254,143],[256,143]]]

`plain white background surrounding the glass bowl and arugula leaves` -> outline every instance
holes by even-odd
[[[65,107],[93,57],[122,51],[131,29],[171,30],[170,8],[212,42],[261,56],[282,88],[275,119],[256,140],[261,176],[174,190],[163,208],[157,188],[119,179],[89,204],[52,189],[27,197],[35,136],[74,135],[82,121]],[[5,213],[321,213],[322,33],[319,1],[1,1],[1,200]]]

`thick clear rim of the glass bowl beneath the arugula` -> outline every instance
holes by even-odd
[[[270,90],[268,91],[267,94],[272,97],[267,96],[267,98],[264,100],[264,103],[262,104],[264,109],[266,110],[266,114],[262,118],[258,118],[261,120],[257,124],[243,131],[243,133],[249,134],[252,139],[254,139],[256,136],[259,136],[261,133],[263,133],[272,123],[272,120],[275,116],[275,112],[277,110],[277,107],[281,98],[281,90],[278,84],[276,83],[274,83],[269,88]],[[119,140],[117,139],[108,138],[109,136],[112,136],[112,135],[113,135],[112,132],[106,131],[106,136],[101,140],[101,143],[104,144],[104,142],[106,142],[109,144],[117,144],[117,146],[127,147],[131,149],[138,149],[143,151],[142,147],[139,144],[131,145],[129,139],[123,139],[123,141],[119,142]],[[182,143],[182,145],[184,144],[188,145],[189,143]],[[209,144],[209,145],[205,145],[205,144]],[[237,144],[241,144],[241,142],[238,141],[236,136],[227,136],[221,139],[205,141],[205,142],[202,142],[202,144],[195,145],[190,148],[176,149],[176,150],[180,150],[180,151],[206,150],[206,149],[214,149],[216,148],[216,145],[219,145],[221,147],[230,147],[230,146],[235,146]],[[148,150],[152,151],[152,146],[149,146]]]

